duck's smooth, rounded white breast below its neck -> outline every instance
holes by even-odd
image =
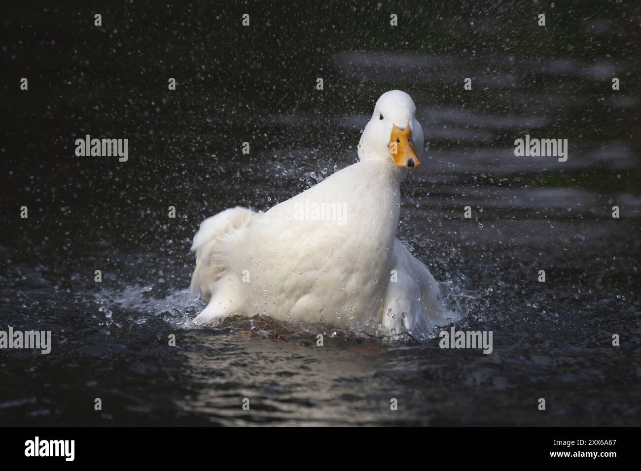
[[[250,315],[335,326],[378,317],[399,189],[371,166],[358,165],[281,202],[247,227],[236,269],[247,272]]]

